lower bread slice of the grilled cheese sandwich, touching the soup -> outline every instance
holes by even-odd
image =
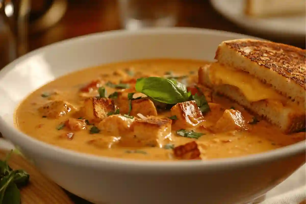
[[[267,121],[277,125],[285,133],[305,128],[305,112],[297,109],[297,106],[292,102],[289,102],[287,105],[269,99],[249,102],[237,87],[226,84],[213,85],[208,75],[209,69],[210,65],[199,69],[199,83],[201,85],[210,87],[217,93],[237,102],[250,112],[266,118]]]

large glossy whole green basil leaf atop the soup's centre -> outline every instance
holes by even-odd
[[[137,79],[136,91],[141,92],[156,101],[176,104],[188,101],[190,93],[184,84],[161,77],[147,77]]]

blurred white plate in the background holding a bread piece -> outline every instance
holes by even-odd
[[[254,33],[290,42],[302,42],[306,35],[305,16],[252,18],[244,15],[244,0],[211,0],[212,6],[228,20]]]

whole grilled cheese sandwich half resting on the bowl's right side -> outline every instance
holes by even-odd
[[[217,62],[199,69],[199,83],[225,95],[283,132],[305,128],[305,50],[239,39],[222,42]]]

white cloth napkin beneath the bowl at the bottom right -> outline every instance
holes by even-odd
[[[306,199],[306,165],[267,192],[260,204],[299,204]]]

